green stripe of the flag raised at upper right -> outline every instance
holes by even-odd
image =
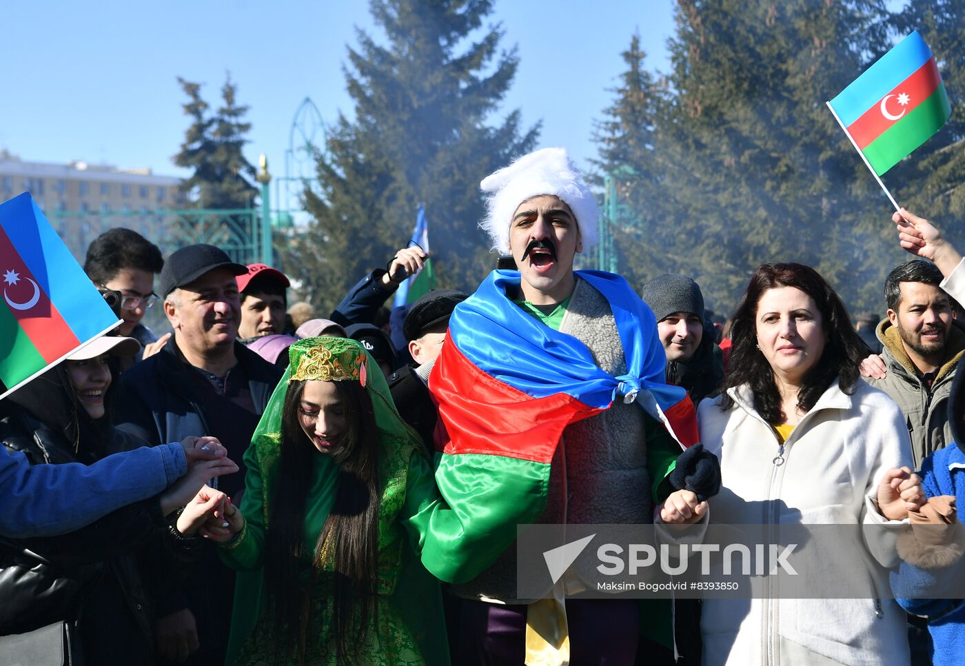
[[[934,93],[862,151],[874,173],[881,176],[908,153],[924,144],[945,125],[949,116],[949,96],[945,92],[945,86],[939,85]]]

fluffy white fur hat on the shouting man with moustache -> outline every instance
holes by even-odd
[[[559,197],[573,211],[584,250],[596,243],[599,214],[596,198],[564,148],[544,148],[523,155],[510,166],[486,176],[480,187],[488,195],[486,215],[480,227],[501,254],[510,254],[512,213],[524,201],[540,194]]]

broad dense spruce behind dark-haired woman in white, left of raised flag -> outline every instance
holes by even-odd
[[[730,312],[758,264],[795,261],[876,304],[887,200],[824,100],[888,49],[888,19],[878,0],[680,0],[652,132],[660,209],[639,236],[656,265],[620,269],[688,273]]]

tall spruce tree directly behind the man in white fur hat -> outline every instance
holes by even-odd
[[[323,308],[405,245],[426,205],[440,286],[472,291],[495,258],[478,229],[480,180],[532,150],[538,126],[518,111],[490,125],[515,73],[503,31],[483,27],[489,0],[372,0],[384,43],[359,32],[345,80],[354,119],[340,115],[306,192],[314,221],[293,248],[305,291]]]

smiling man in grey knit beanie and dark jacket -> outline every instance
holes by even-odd
[[[667,354],[667,383],[687,389],[696,406],[724,376],[720,348],[704,330],[701,288],[686,275],[664,273],[644,285],[642,295]]]

